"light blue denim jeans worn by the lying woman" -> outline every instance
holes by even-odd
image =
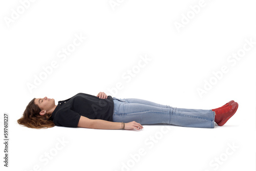
[[[147,100],[113,97],[114,122],[136,121],[140,124],[166,123],[186,127],[214,128],[215,112],[202,109],[173,108]]]

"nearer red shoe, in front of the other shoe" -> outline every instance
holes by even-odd
[[[215,111],[215,122],[219,125],[222,126],[224,125],[229,118],[231,118],[238,109],[238,103],[233,102],[231,105],[227,106],[226,108],[219,109]]]

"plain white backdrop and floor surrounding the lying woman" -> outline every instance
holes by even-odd
[[[20,2],[25,0],[0,3],[1,137],[8,113],[10,139],[8,168],[1,143],[1,170],[255,170],[256,45],[234,65],[227,61],[246,39],[256,40],[255,1],[205,0],[194,17],[189,6],[200,1],[124,0],[113,1],[118,5],[112,8],[108,0],[38,0],[27,3],[25,11]],[[21,14],[7,24],[17,10]],[[175,22],[187,14],[191,19],[178,32]],[[72,44],[75,34],[87,38],[61,60],[58,52]],[[151,60],[138,70],[140,56]],[[27,84],[34,84],[52,61],[58,67],[30,92]],[[213,78],[222,66],[228,72]],[[129,80],[122,77],[129,76],[127,70],[133,70]],[[200,97],[197,89],[210,79],[216,84]],[[111,93],[118,82],[123,87]],[[194,109],[235,100],[239,108],[215,129],[36,130],[18,125],[32,98],[47,96],[57,103],[79,92]],[[67,143],[61,146],[58,139]],[[140,150],[144,155],[138,155]]]

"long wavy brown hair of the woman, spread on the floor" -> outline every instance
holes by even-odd
[[[18,124],[34,128],[34,129],[41,129],[41,128],[48,128],[53,127],[55,124],[49,118],[52,116],[50,115],[40,115],[40,108],[37,104],[35,104],[35,98],[33,98],[29,104],[27,105],[23,117],[17,120]]]

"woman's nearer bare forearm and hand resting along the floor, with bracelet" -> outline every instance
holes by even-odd
[[[102,130],[120,130],[122,129],[121,122],[111,122],[101,119],[89,119],[87,117],[81,116],[78,122],[77,127],[86,127],[90,129],[102,129]],[[135,121],[125,123],[125,130],[131,129],[143,129],[143,126],[140,123]]]

